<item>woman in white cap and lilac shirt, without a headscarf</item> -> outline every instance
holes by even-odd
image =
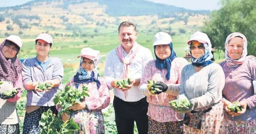
[[[26,114],[23,123],[23,134],[39,133],[41,115],[48,109],[58,114],[53,98],[62,87],[63,65],[59,58],[50,57],[53,40],[51,35],[43,33],[35,39],[36,57],[22,62],[23,87],[28,91]],[[37,88],[40,83],[49,83],[53,87],[49,91]]]

